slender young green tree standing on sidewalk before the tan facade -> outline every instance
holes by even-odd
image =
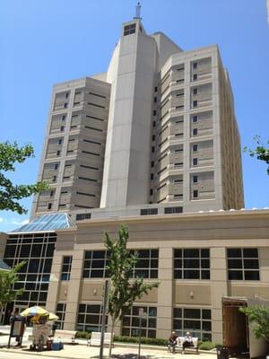
[[[105,233],[105,246],[108,250],[108,275],[110,277],[110,290],[108,299],[108,314],[111,316],[111,332],[118,320],[122,320],[126,312],[133,306],[136,299],[142,298],[143,294],[149,293],[152,288],[159,286],[159,283],[143,282],[142,277],[133,277],[134,265],[138,260],[137,254],[126,249],[129,237],[128,228],[121,226],[118,232],[118,239],[110,238]],[[109,357],[111,356],[112,341],[109,346]]]

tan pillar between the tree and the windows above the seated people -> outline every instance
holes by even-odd
[[[173,249],[159,249],[157,337],[169,337],[173,310]]]

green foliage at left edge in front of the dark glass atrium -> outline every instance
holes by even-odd
[[[8,302],[13,302],[19,295],[22,295],[23,289],[14,290],[13,284],[18,280],[18,272],[26,264],[26,261],[18,263],[10,271],[0,271],[0,311]]]

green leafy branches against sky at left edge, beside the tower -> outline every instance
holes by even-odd
[[[0,143],[0,210],[11,210],[20,215],[26,214],[27,210],[20,205],[19,200],[48,189],[48,184],[45,182],[33,185],[13,185],[13,182],[5,177],[5,172],[15,171],[15,162],[22,163],[31,157],[34,157],[34,150],[30,144],[19,147],[16,142]]]

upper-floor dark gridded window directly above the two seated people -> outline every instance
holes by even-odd
[[[174,250],[175,279],[210,279],[209,249]]]

